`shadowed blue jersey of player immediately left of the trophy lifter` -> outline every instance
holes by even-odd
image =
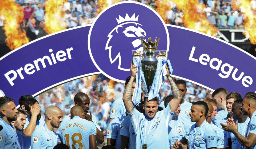
[[[134,132],[132,122],[131,122],[129,116],[125,116],[125,118],[124,118],[124,121],[121,126],[121,130],[120,130],[120,136],[129,137],[128,147],[130,149],[135,148],[136,136],[135,136],[135,132]]]

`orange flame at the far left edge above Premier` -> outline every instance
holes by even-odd
[[[0,6],[0,13],[5,18],[3,30],[6,45],[13,50],[28,43],[26,31],[19,25],[23,20],[24,9],[13,0],[1,0]]]

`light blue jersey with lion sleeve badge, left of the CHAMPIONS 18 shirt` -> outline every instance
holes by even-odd
[[[31,135],[31,149],[52,149],[57,145],[58,133],[50,131],[46,124],[37,128]]]

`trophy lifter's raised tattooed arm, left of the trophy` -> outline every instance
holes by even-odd
[[[132,83],[133,83],[133,80],[135,79],[136,72],[137,72],[136,66],[131,65],[131,79],[129,80],[127,86],[125,87],[124,94],[123,94],[124,106],[126,111],[129,114],[132,114],[134,110],[134,105],[132,103],[131,96],[132,96]]]

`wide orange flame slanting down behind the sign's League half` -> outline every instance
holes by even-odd
[[[191,0],[172,0],[179,10],[183,11],[182,23],[189,29],[209,35],[217,33],[218,29],[212,26],[203,11],[204,4]]]

